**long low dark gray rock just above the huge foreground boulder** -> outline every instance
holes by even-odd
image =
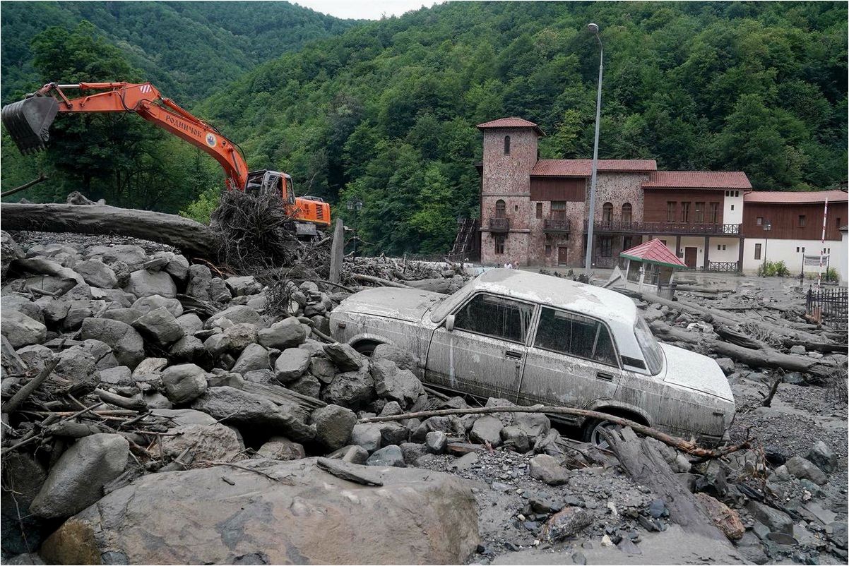
[[[307,426],[300,417],[298,406],[278,406],[272,401],[233,387],[210,387],[200,395],[192,408],[224,419],[238,427],[277,432],[297,442],[315,438],[315,429]]]

